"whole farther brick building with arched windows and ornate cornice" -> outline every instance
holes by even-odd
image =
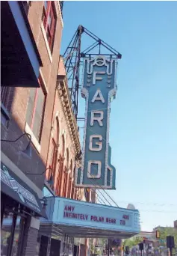
[[[49,138],[49,169],[43,188],[43,196],[47,198],[46,209],[50,214],[53,213],[48,203],[50,198],[85,200],[84,189],[75,188],[75,168],[80,165],[81,145],[61,56],[58,74]],[[48,220],[40,225],[39,243],[40,256],[80,255],[80,250],[85,246],[85,240],[75,239],[75,236],[61,232],[60,227],[48,225]]]

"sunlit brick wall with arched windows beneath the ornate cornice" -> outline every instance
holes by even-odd
[[[65,70],[63,69],[63,60],[60,58],[60,66],[58,69],[60,76],[65,76]],[[64,78],[63,78],[64,79]],[[69,96],[68,96],[69,100]],[[73,116],[73,118],[75,118]],[[72,186],[75,184],[75,165],[78,162],[75,161],[77,150],[73,143],[72,132],[69,129],[69,122],[67,120],[67,112],[63,103],[63,96],[60,94],[60,90],[56,90],[55,104],[52,116],[52,130],[50,136],[49,156],[51,155],[52,140],[55,140],[55,144],[58,145],[56,153],[56,165],[55,165],[55,177],[54,177],[54,190],[56,195],[79,199],[83,197],[83,189],[74,188],[72,193]],[[48,164],[50,163],[50,157],[48,157]],[[49,171],[46,174],[48,177]],[[59,180],[58,180],[59,179]]]

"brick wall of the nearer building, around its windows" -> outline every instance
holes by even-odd
[[[56,1],[57,2],[57,1]],[[46,162],[49,150],[49,141],[51,136],[52,112],[55,100],[55,87],[58,75],[58,61],[60,55],[60,40],[63,25],[60,20],[60,10],[58,4],[55,4],[58,19],[56,24],[55,43],[52,58],[49,57],[49,50],[46,47],[46,41],[41,26],[43,1],[31,1],[28,10],[28,20],[31,25],[34,39],[40,52],[40,58],[43,61],[43,67],[40,68],[43,77],[43,86],[46,90],[46,109],[43,117],[43,130],[40,141],[40,153],[32,145],[32,159],[28,159],[19,150],[24,150],[28,144],[28,138],[25,136],[15,143],[2,142],[1,150],[25,173],[42,173],[46,169]],[[28,106],[28,96],[30,88],[14,88],[8,98],[7,110],[10,121],[6,126],[1,125],[1,138],[16,139],[25,132],[26,111]],[[44,175],[28,176],[37,186],[42,189]]]

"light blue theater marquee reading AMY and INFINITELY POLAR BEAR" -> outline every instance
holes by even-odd
[[[140,232],[138,210],[91,204],[66,198],[47,198],[40,230],[55,236],[128,238]]]

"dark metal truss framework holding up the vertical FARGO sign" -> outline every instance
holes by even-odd
[[[93,44],[81,51],[81,36],[82,34],[87,34],[87,36],[91,37],[94,41]],[[97,53],[93,53],[93,49],[97,49]],[[78,92],[80,85],[80,69],[81,62],[83,62],[84,58],[91,57],[93,55],[100,55],[101,48],[105,48],[107,54],[102,53],[103,55],[108,55],[109,58],[122,58],[122,55],[117,52],[114,48],[105,43],[99,37],[97,37],[92,32],[88,31],[87,28],[84,28],[83,25],[79,25],[75,34],[72,37],[72,40],[69,42],[69,46],[67,46],[66,51],[63,54],[64,65],[66,68],[66,76],[68,79],[69,92],[72,100],[72,110],[75,114],[75,118],[78,120]]]

